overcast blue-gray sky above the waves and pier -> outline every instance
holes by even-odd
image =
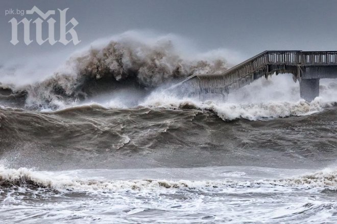
[[[42,12],[69,8],[67,18],[78,20],[76,31],[82,42],[75,47],[35,42],[26,46],[21,35],[20,43],[13,46],[8,21],[25,16],[5,16],[5,10],[33,6]],[[0,9],[0,65],[18,55],[72,51],[97,38],[134,29],[182,35],[201,51],[227,48],[247,58],[267,49],[337,50],[337,0],[2,0]]]

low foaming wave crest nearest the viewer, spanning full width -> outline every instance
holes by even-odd
[[[53,177],[52,177],[53,176]],[[46,176],[41,172],[34,172],[26,168],[0,169],[0,186],[2,187],[27,187],[29,189],[51,188],[59,192],[106,192],[129,190],[157,190],[157,189],[186,189],[210,190],[246,187],[292,187],[292,188],[318,188],[318,190],[337,190],[337,172],[330,169],[300,177],[275,179],[275,180],[212,180],[212,181],[168,181],[168,180],[93,180],[74,179],[69,176]]]

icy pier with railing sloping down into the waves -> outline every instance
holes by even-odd
[[[312,101],[319,96],[320,78],[337,78],[337,51],[267,50],[222,74],[194,74],[179,83],[190,94],[221,94],[249,85],[269,75],[293,74],[299,81],[301,98]]]

